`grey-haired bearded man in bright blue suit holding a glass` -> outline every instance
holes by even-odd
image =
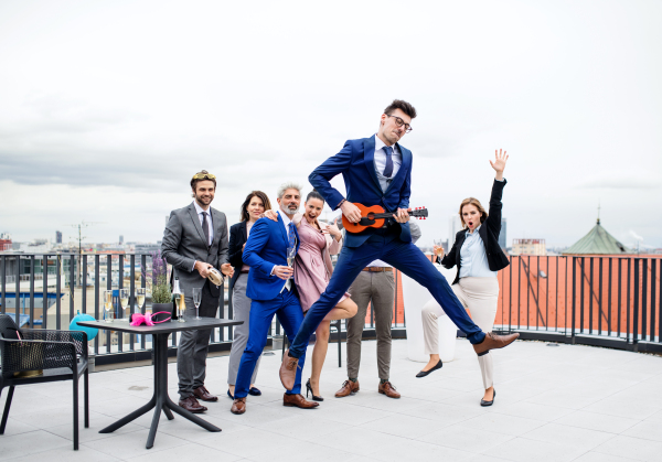
[[[303,310],[297,298],[292,268],[287,265],[288,256],[293,257],[299,249],[299,234],[291,222],[301,203],[301,189],[286,183],[278,191],[278,222],[260,218],[250,228],[243,260],[250,267],[246,297],[252,301],[249,332],[246,350],[242,355],[235,384],[231,412],[246,412],[246,396],[255,364],[261,354],[274,320],[278,316],[289,341],[293,340],[303,321]],[[292,251],[293,250],[293,251]],[[306,353],[306,352],[303,352]],[[311,409],[318,402],[308,401],[301,395],[301,368],[305,354],[300,356],[301,367],[297,369],[292,386],[282,397],[284,406]]]

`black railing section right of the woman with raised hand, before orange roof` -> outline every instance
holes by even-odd
[[[494,329],[524,339],[662,352],[656,256],[517,256],[499,272]]]

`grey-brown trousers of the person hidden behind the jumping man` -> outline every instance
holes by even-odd
[[[377,334],[377,370],[380,378],[387,380],[391,373],[391,322],[393,321],[393,299],[395,297],[393,271],[361,271],[349,292],[359,307],[359,311],[354,318],[346,320],[348,377],[359,377],[361,340],[367,305],[371,304]]]

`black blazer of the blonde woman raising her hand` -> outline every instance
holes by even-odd
[[[488,219],[484,221],[478,230],[478,234],[480,235],[481,239],[483,239],[483,244],[485,245],[488,265],[492,271],[499,271],[500,269],[503,269],[510,265],[508,257],[499,246],[499,233],[501,233],[501,208],[503,207],[503,204],[501,203],[501,196],[503,195],[503,186],[505,186],[505,179],[503,179],[503,181],[494,180],[494,184],[492,185],[492,196],[490,197],[490,212],[488,213]],[[456,241],[452,245],[452,248],[444,256],[444,259],[441,260],[441,265],[448,269],[451,269],[456,265],[458,266],[458,273],[455,281],[452,281],[453,284],[460,280],[460,268],[462,261],[460,258],[460,249],[462,248],[462,244],[465,244],[466,237],[467,229],[462,229],[456,234]],[[438,257],[437,261],[439,261]]]

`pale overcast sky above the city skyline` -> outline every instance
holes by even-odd
[[[423,244],[462,198],[487,205],[503,148],[509,245],[572,245],[600,203],[623,244],[662,247],[660,24],[633,0],[4,0],[0,233],[160,240],[201,169],[236,223],[250,190],[310,191],[402,98]]]

